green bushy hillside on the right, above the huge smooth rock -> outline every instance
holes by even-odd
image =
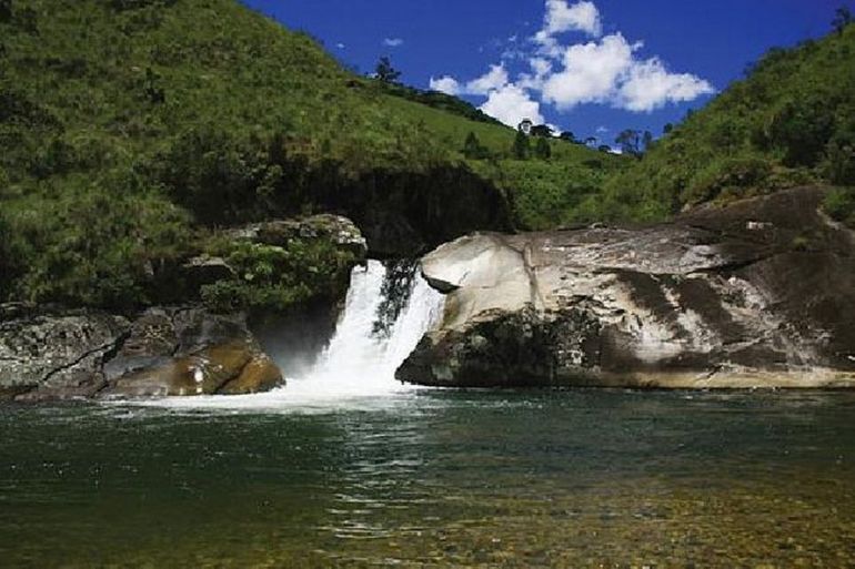
[[[855,185],[855,26],[774,49],[746,75],[610,180],[603,213],[660,220],[797,184]],[[852,201],[835,200],[841,212]]]

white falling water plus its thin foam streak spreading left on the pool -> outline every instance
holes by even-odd
[[[444,297],[416,275],[404,308],[389,334],[373,333],[383,298],[386,267],[369,261],[351,275],[348,299],[329,346],[305,377],[289,378],[285,387],[247,396],[174,397],[143,405],[177,408],[275,409],[330,408],[344,400],[366,402],[409,390],[394,378],[424,333],[442,317]]]

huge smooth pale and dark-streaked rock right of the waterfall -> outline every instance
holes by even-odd
[[[475,234],[422,261],[447,294],[399,369],[446,386],[855,387],[855,238],[819,189],[671,224]]]

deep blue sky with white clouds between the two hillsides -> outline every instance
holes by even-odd
[[[361,72],[389,55],[513,123],[613,142],[660,134],[772,47],[829,31],[855,0],[244,0]],[[433,83],[432,83],[433,81]]]

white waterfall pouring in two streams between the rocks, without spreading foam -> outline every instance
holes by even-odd
[[[393,276],[379,261],[353,270],[332,341],[304,377],[289,380],[283,389],[285,397],[380,395],[401,388],[394,378],[395,369],[439,322],[443,296],[418,272],[404,283],[404,291],[384,286]],[[392,312],[394,319],[388,323],[388,329],[379,329],[383,311],[389,309],[385,304],[395,301],[389,298],[390,294],[403,294],[401,306]]]

